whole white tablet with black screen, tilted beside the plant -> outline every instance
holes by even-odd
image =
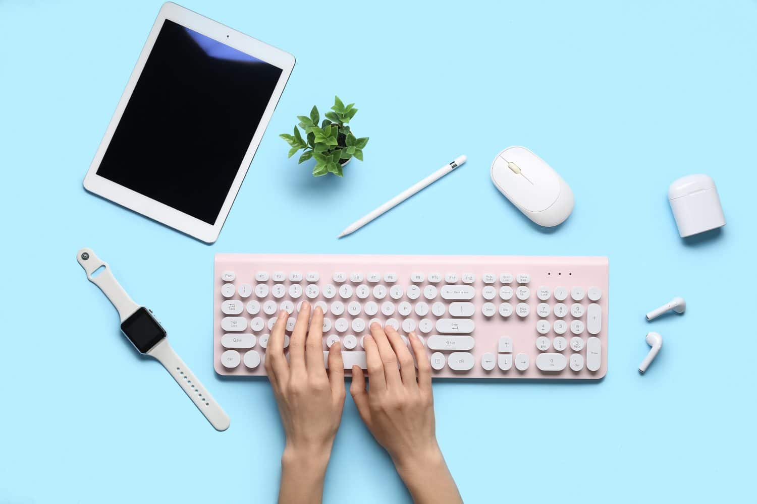
[[[84,187],[213,243],[292,67],[291,54],[164,4]]]

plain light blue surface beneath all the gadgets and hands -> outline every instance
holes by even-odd
[[[435,383],[466,502],[753,499],[757,3],[185,6],[298,60],[213,246],[82,188],[160,2],[0,2],[0,502],[273,502],[283,439],[269,386],[211,365],[216,252],[608,255],[602,382]],[[313,179],[276,135],[335,93],[371,140],[344,179]],[[515,144],[575,192],[553,232],[489,180]],[[335,239],[463,153],[461,169]],[[666,191],[697,172],[715,178],[727,226],[681,240]],[[160,317],[228,431],[120,335],[74,260],[83,246]],[[687,313],[646,323],[674,295]],[[639,376],[650,330],[665,344]],[[325,502],[408,500],[348,398]]]

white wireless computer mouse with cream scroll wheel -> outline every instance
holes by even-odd
[[[562,224],[573,210],[573,191],[550,165],[525,147],[507,147],[491,163],[491,181],[510,203],[544,227]]]

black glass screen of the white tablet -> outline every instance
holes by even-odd
[[[97,174],[214,224],[281,73],[165,20]]]

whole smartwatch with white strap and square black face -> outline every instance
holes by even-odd
[[[81,249],[76,253],[76,261],[86,271],[87,278],[100,288],[113,303],[121,318],[121,331],[132,345],[142,354],[154,357],[163,364],[176,383],[192,399],[198,410],[210,425],[218,431],[229,428],[229,416],[221,409],[210,392],[202,386],[184,361],[176,355],[166,337],[166,330],[160,326],[144,306],[137,305],[116,281],[107,262],[101,261],[91,249]],[[99,268],[99,274],[92,276]]]

